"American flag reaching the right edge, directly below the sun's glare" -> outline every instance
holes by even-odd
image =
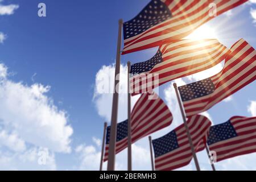
[[[240,39],[230,51],[220,73],[178,88],[187,117],[210,109],[255,80],[255,49]]]

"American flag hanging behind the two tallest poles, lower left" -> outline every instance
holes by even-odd
[[[157,96],[157,95],[155,95]],[[167,105],[157,97],[150,100],[150,94],[142,94],[131,112],[131,142],[146,137],[147,135],[171,125],[172,113]],[[127,147],[127,121],[117,125],[116,154]],[[106,134],[106,147],[104,161],[109,155],[110,126]]]

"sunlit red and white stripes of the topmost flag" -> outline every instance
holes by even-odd
[[[152,26],[148,30],[124,40],[122,54],[161,46],[173,40],[183,39],[196,28],[208,22],[210,3],[215,3],[217,15],[247,2],[247,0],[161,0],[172,13],[172,18]]]

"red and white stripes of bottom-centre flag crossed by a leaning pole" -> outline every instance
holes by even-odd
[[[205,136],[209,133],[211,122],[203,115],[194,115],[188,118],[187,123],[195,151],[204,150],[205,145],[201,145],[201,143],[207,141]],[[184,124],[177,127],[175,132],[179,148],[155,158],[155,169],[158,171],[171,171],[187,166],[193,158]]]

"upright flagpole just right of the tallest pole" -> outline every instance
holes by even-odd
[[[127,62],[127,103],[128,103],[128,171],[131,171],[131,93],[130,93],[130,61]]]

